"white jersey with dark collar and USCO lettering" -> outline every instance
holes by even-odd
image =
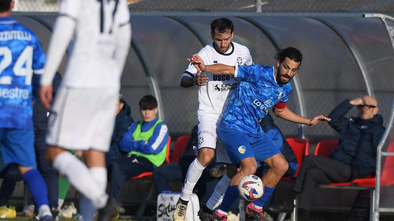
[[[238,64],[253,64],[249,49],[236,42],[231,42],[229,52],[224,54],[217,52],[212,42],[201,49],[198,55],[206,65],[226,64],[235,66]],[[190,63],[182,76],[194,77],[196,74],[197,69]],[[229,105],[234,89],[239,83],[239,79],[230,75],[214,75],[209,72],[201,72],[201,74],[206,74],[208,82],[205,86],[199,88],[199,110],[197,111],[197,115],[198,117],[208,116],[217,119],[217,122],[220,123],[223,113]]]

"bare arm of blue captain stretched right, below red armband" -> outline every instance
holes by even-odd
[[[275,116],[283,118],[284,120],[288,120],[290,122],[294,122],[294,123],[301,123],[301,124],[305,124],[305,125],[309,125],[309,126],[313,126],[316,125],[317,123],[321,122],[321,121],[330,121],[330,118],[327,118],[323,115],[318,115],[312,119],[308,119],[308,118],[304,118],[303,116],[300,116],[296,113],[294,113],[293,111],[291,111],[290,109],[288,109],[288,107],[285,107],[284,109],[277,109],[277,108],[273,108],[273,111],[275,113]]]

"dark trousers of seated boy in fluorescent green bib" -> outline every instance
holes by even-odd
[[[112,164],[110,197],[121,202],[123,182],[141,173],[153,171],[153,164],[145,157],[125,155]]]

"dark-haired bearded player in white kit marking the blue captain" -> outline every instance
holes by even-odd
[[[204,62],[208,64],[250,65],[253,64],[249,49],[243,45],[232,42],[234,37],[234,25],[228,18],[218,18],[211,23],[211,37],[214,40],[198,53]],[[181,87],[199,87],[198,120],[198,152],[197,158],[190,164],[180,198],[177,202],[173,218],[174,221],[184,221],[185,212],[190,195],[196,182],[201,177],[203,170],[215,156],[216,162],[226,163],[227,173],[217,184],[214,193],[207,201],[206,206],[201,208],[198,215],[201,220],[209,219],[212,210],[223,199],[230,179],[236,173],[232,166],[226,149],[219,138],[219,124],[223,113],[227,109],[232,93],[238,85],[239,79],[234,76],[213,75],[209,72],[197,74],[197,69],[190,64],[180,79]]]

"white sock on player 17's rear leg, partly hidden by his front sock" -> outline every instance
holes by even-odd
[[[90,174],[93,177],[93,182],[99,186],[100,190],[107,187],[107,168],[105,167],[92,167],[89,168]],[[87,199],[84,195],[81,197],[81,214],[82,221],[92,221],[93,215],[97,211],[97,207],[92,204],[92,201]]]

